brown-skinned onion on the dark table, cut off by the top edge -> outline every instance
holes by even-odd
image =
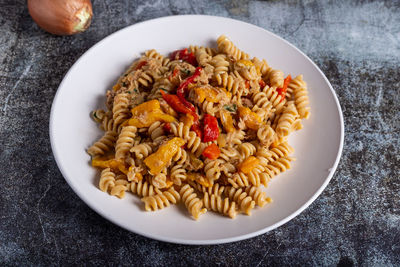
[[[93,16],[90,0],[28,0],[28,9],[40,28],[57,35],[83,32]]]

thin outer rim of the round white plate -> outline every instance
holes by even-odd
[[[306,201],[300,208],[298,208],[295,212],[293,212],[292,214],[290,214],[289,216],[285,217],[284,219],[280,220],[279,222],[265,227],[261,230],[258,231],[254,231],[248,234],[243,234],[243,235],[239,235],[239,236],[234,236],[234,237],[228,237],[228,238],[218,238],[218,239],[209,239],[209,240],[196,240],[196,239],[181,239],[181,238],[170,238],[170,237],[164,237],[164,236],[158,236],[157,234],[152,234],[152,233],[148,233],[148,232],[142,232],[142,231],[138,231],[138,230],[132,230],[132,229],[128,229],[127,227],[125,227],[124,225],[120,224],[117,220],[115,220],[112,216],[107,216],[104,212],[101,211],[101,209],[95,207],[94,205],[91,204],[91,202],[88,200],[88,197],[86,197],[85,194],[81,194],[80,191],[74,187],[74,185],[72,184],[72,182],[70,182],[69,179],[67,179],[67,175],[66,175],[66,171],[64,170],[63,165],[61,164],[60,160],[59,160],[59,151],[56,150],[55,148],[55,141],[54,141],[54,113],[55,113],[55,103],[57,103],[58,98],[60,96],[60,88],[63,87],[64,83],[66,82],[66,78],[70,75],[70,73],[72,72],[72,70],[80,63],[81,60],[83,60],[83,58],[85,58],[85,56],[91,52],[93,49],[95,49],[97,46],[101,45],[102,43],[106,42],[108,39],[113,38],[114,35],[117,35],[125,30],[131,29],[131,28],[135,28],[135,27],[139,27],[142,24],[146,24],[146,23],[151,23],[151,22],[155,22],[157,20],[162,21],[162,20],[170,20],[170,19],[175,19],[175,18],[182,18],[182,17],[187,17],[187,18],[218,18],[218,19],[222,19],[222,20],[227,20],[227,21],[235,21],[235,22],[240,22],[242,24],[245,24],[247,26],[250,27],[255,27],[258,28],[259,30],[265,31],[268,34],[273,35],[275,38],[278,38],[280,41],[285,42],[287,45],[291,46],[292,48],[294,48],[298,53],[300,53],[301,55],[303,55],[311,64],[313,67],[315,67],[315,69],[319,72],[319,74],[323,77],[323,79],[325,80],[325,82],[328,84],[329,89],[331,90],[331,93],[333,95],[333,98],[335,100],[336,106],[337,106],[337,110],[339,113],[339,121],[340,121],[340,140],[339,140],[339,149],[337,151],[336,154],[336,159],[335,162],[332,166],[332,168],[329,170],[329,174],[326,177],[325,181],[322,183],[322,185],[319,187],[319,189],[312,195],[312,197]],[[329,82],[329,80],[327,79],[327,77],[325,76],[325,74],[321,71],[321,69],[314,63],[313,60],[311,60],[305,53],[303,53],[299,48],[297,48],[295,45],[293,45],[292,43],[288,42],[287,40],[283,39],[282,37],[278,36],[277,34],[266,30],[260,26],[257,26],[255,24],[251,24],[249,22],[245,22],[242,20],[238,20],[238,19],[232,19],[229,17],[223,17],[223,16],[212,16],[212,15],[196,15],[196,14],[187,14],[187,15],[174,15],[174,16],[164,16],[164,17],[159,17],[159,18],[154,18],[154,19],[150,19],[150,20],[145,20],[145,21],[141,21],[132,25],[128,25],[125,26],[109,35],[107,35],[106,37],[104,37],[103,39],[99,40],[98,42],[96,42],[93,46],[91,46],[89,49],[87,49],[76,61],[75,63],[69,68],[69,70],[65,73],[62,81],[60,82],[56,94],[53,98],[53,102],[51,105],[51,111],[50,111],[50,119],[49,119],[49,136],[50,136],[50,144],[51,144],[51,150],[53,153],[53,157],[56,161],[57,167],[60,170],[64,180],[67,182],[67,184],[72,188],[72,190],[75,192],[75,194],[78,195],[78,197],[83,200],[83,202],[88,205],[92,210],[94,210],[97,214],[99,214],[101,217],[103,217],[104,219],[106,219],[107,221],[110,221],[112,223],[114,223],[115,225],[129,231],[129,232],[133,232],[135,234],[147,237],[147,238],[151,238],[154,240],[158,240],[158,241],[163,241],[163,242],[168,242],[168,243],[175,243],[175,244],[184,244],[184,245],[216,245],[216,244],[224,244],[224,243],[231,243],[231,242],[237,242],[237,241],[241,241],[241,240],[245,240],[245,239],[249,239],[264,233],[267,233],[269,231],[272,231],[276,228],[278,228],[279,226],[282,226],[283,224],[289,222],[290,220],[294,219],[296,216],[298,216],[300,213],[302,213],[306,208],[308,208],[316,199],[317,197],[325,190],[326,186],[329,184],[330,180],[332,179],[333,175],[336,172],[336,169],[339,165],[341,156],[342,156],[342,152],[343,152],[343,144],[344,144],[344,118],[343,118],[343,111],[342,108],[340,106],[340,102],[339,99],[336,95],[335,90],[333,89],[331,83]]]

